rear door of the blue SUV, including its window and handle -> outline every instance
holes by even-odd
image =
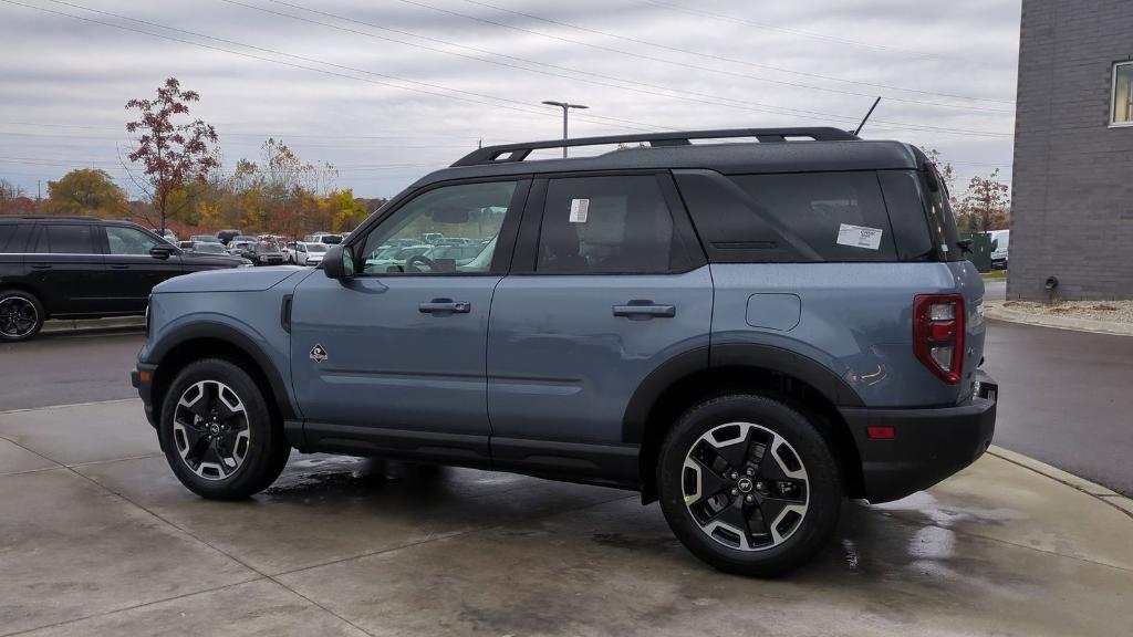
[[[671,178],[537,180],[488,325],[500,467],[633,481],[627,407],[673,356],[704,348],[713,289]]]

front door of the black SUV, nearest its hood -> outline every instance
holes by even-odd
[[[145,312],[153,287],[185,270],[178,254],[168,258],[151,255],[150,250],[164,241],[138,228],[104,226],[100,240],[107,252],[108,284],[100,299],[104,312]]]

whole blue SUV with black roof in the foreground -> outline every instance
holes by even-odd
[[[903,143],[493,146],[316,271],[161,283],[133,380],[205,498],[263,490],[292,448],[519,472],[638,490],[706,562],[775,575],[821,549],[843,498],[902,498],[990,444],[966,247]]]

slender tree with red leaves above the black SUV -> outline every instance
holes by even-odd
[[[220,167],[213,146],[216,130],[199,119],[178,121],[189,114],[189,102],[201,101],[196,91],[181,91],[181,83],[170,77],[157,88],[153,100],[134,99],[127,110],[137,110],[138,119],[126,125],[137,135],[136,150],[129,160],[144,167],[147,190],[161,215],[161,231],[170,215],[170,194],[190,182],[204,184],[208,172]]]

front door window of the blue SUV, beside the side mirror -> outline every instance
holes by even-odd
[[[369,232],[359,254],[365,274],[484,273],[511,207],[514,181],[443,186],[417,195]],[[440,249],[468,241],[475,250]],[[475,252],[475,254],[472,254]]]

